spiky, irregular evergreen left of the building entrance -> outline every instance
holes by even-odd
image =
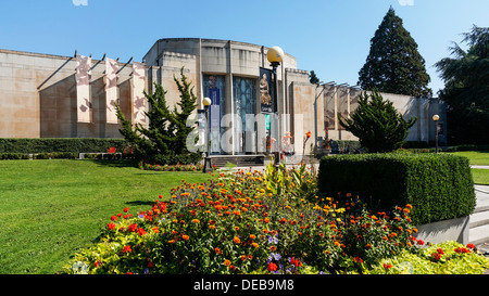
[[[120,106],[116,106],[121,120],[121,133],[135,150],[138,158],[154,164],[191,164],[200,160],[201,155],[190,153],[187,137],[195,126],[187,126],[187,119],[197,107],[197,96],[181,68],[181,78],[174,80],[180,92],[180,101],[172,110],[166,103],[166,91],[161,85],[154,85],[154,92],[145,96],[151,106],[146,116],[149,126],[134,125],[126,119]]]

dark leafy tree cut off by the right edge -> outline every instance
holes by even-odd
[[[489,28],[474,26],[463,42],[450,48],[453,57],[436,63],[444,89],[439,98],[447,102],[451,144],[489,144]]]

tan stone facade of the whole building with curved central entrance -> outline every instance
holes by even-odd
[[[193,82],[193,91],[199,98],[198,108],[203,108],[204,96],[216,94],[211,90],[213,86],[218,88],[220,100],[218,106],[213,108],[213,116],[218,116],[213,118],[223,119],[225,115],[231,115],[229,123],[211,125],[211,139],[214,139],[211,152],[234,155],[261,153],[263,139],[259,139],[259,134],[263,134],[264,124],[237,115],[262,114],[260,73],[261,68],[272,68],[266,59],[267,51],[266,47],[231,40],[160,39],[145,55],[142,74],[135,72],[140,63],[117,61],[112,64],[114,72],[108,74],[109,57],[89,59],[88,113],[83,114],[88,119],[82,120],[78,55],[0,50],[0,138],[121,138],[120,125],[114,123],[113,113],[110,113],[113,112],[110,98],[116,95],[126,118],[141,120],[138,116],[148,107],[138,103],[141,101],[141,92],[138,92],[141,83],[148,92],[152,91],[153,83],[161,83],[167,91],[167,103],[173,105],[179,100],[174,77],[178,78],[184,69]],[[325,138],[354,140],[339,126],[336,114],[346,117],[353,112],[360,90],[311,85],[309,72],[298,69],[296,57],[287,53],[277,68],[277,80],[275,114],[279,115],[276,123],[278,141],[280,134],[290,131],[293,150],[302,153],[302,139],[306,131],[311,131],[312,140],[305,150],[309,153],[311,143],[321,146]],[[394,102],[406,118],[418,118],[408,140],[434,140],[432,114],[438,113],[441,121],[446,118],[444,106],[438,100],[388,93],[384,98]]]

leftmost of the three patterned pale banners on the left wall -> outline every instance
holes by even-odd
[[[76,55],[76,113],[78,123],[91,121],[91,57]]]

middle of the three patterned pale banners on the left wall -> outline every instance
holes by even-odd
[[[105,61],[105,114],[108,124],[117,124],[115,104],[118,103],[117,72],[118,62],[112,59]]]

